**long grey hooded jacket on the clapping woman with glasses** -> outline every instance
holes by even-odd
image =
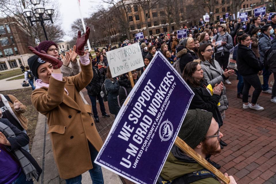
[[[216,84],[219,84],[221,82],[224,82],[226,79],[225,76],[223,75],[223,69],[221,66],[218,64],[216,60],[213,60],[214,66],[210,64],[209,61],[201,61],[200,66],[201,69],[203,70],[203,77],[207,81],[208,84],[211,84],[212,87],[215,87]],[[228,109],[229,102],[226,97],[226,88],[223,86],[223,91],[221,93],[221,97],[219,99],[219,103],[221,104],[218,107],[218,110],[221,112],[223,110]]]

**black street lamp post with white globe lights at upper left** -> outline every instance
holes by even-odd
[[[46,34],[46,30],[44,27],[44,21],[45,20],[51,20],[51,23],[53,24],[53,20],[52,20],[52,15],[54,13],[54,9],[51,7],[43,7],[42,5],[40,5],[40,0],[31,0],[31,3],[34,5],[33,10],[26,8],[23,10],[23,16],[25,18],[27,18],[30,21],[31,26],[33,26],[33,22],[40,22],[43,31],[44,31],[44,35],[46,40],[48,40],[47,34]],[[43,19],[43,14],[46,14],[49,16],[49,18]],[[35,17],[35,20],[32,20],[32,17]]]

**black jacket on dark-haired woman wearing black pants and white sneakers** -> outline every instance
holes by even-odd
[[[250,75],[257,74],[260,70],[262,70],[263,65],[258,60],[252,49],[239,44],[237,51],[237,68],[239,74]]]

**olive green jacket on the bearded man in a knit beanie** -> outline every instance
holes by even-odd
[[[173,146],[164,164],[160,176],[168,181],[204,169],[195,160],[185,155],[178,147]],[[220,184],[216,179],[209,177],[195,181],[191,184]]]

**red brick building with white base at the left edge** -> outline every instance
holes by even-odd
[[[28,65],[33,54],[28,50],[27,33],[13,18],[0,19],[0,71]]]

